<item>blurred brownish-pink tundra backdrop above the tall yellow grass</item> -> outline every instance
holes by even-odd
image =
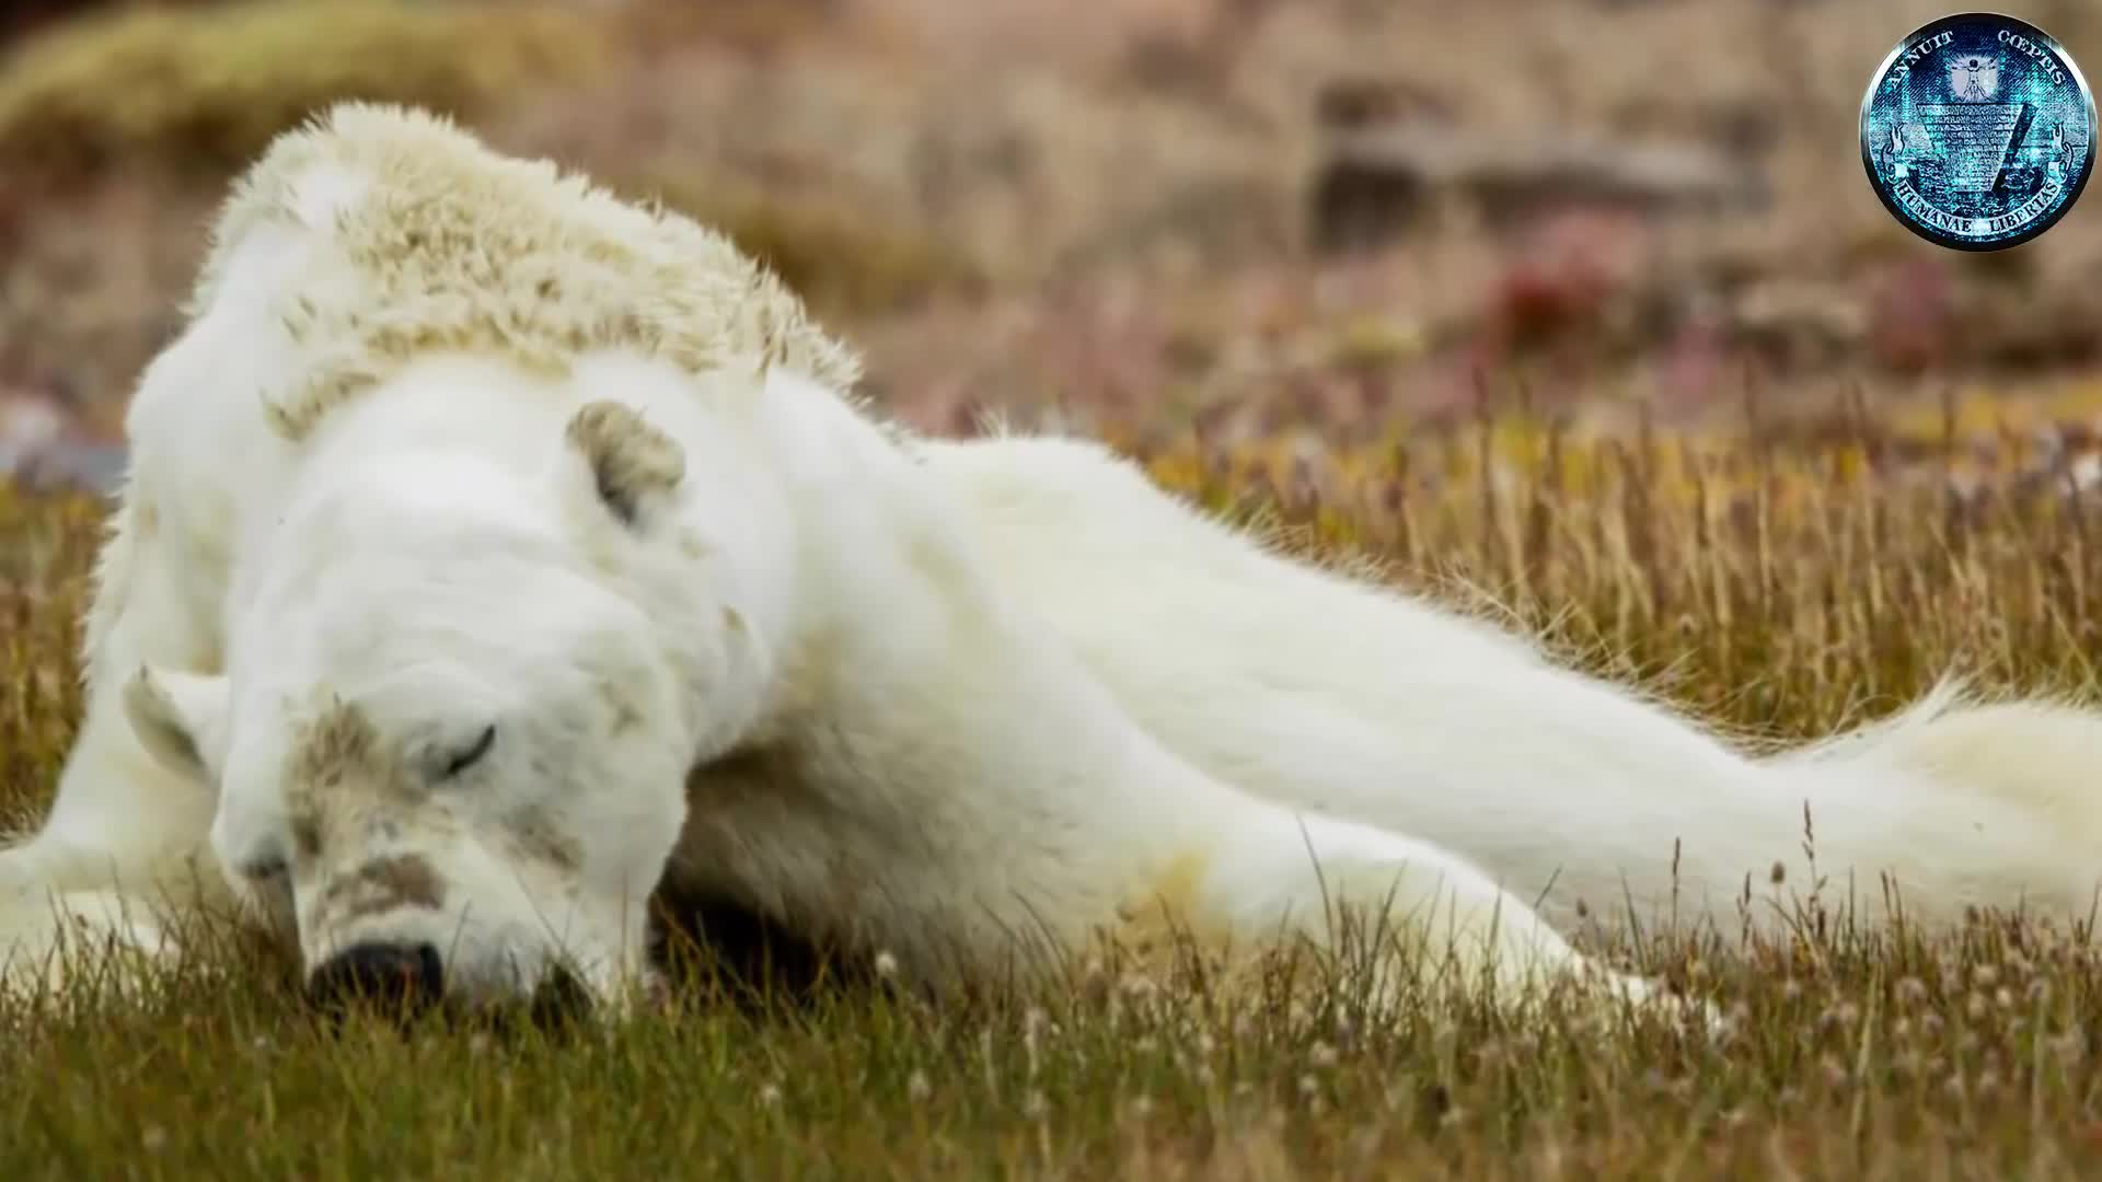
[[[1944,11],[13,0],[0,471],[109,480],[225,181],[338,97],[452,111],[725,229],[923,429],[1377,446],[1520,398],[1579,431],[1755,402],[2079,448],[2102,196],[1959,254],[1862,175],[1869,76]],[[2102,4],[2010,11],[2102,69]]]

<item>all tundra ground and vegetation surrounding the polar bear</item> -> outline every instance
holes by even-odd
[[[6,50],[0,452],[19,480],[0,488],[0,824],[36,816],[78,721],[103,519],[78,484],[166,328],[212,177],[347,93],[456,107],[509,147],[725,223],[868,347],[870,393],[919,427],[1055,414],[1284,547],[1530,629],[1749,745],[1875,717],[1942,671],[2096,698],[2102,221],[2077,210],[2007,257],[1949,259],[1867,187],[1835,202],[1818,181],[1858,172],[1820,120],[1846,124],[1858,78],[1938,11],[1572,0],[1539,23],[1520,4],[1192,4],[1236,15],[1148,25],[1175,6],[1133,0],[1104,8],[1097,44],[1015,4],[1009,40],[1036,59],[1015,65],[988,19],[942,29],[980,53],[933,69],[914,36],[940,17],[912,4],[517,8],[532,17],[99,4]],[[2041,8],[2102,61],[2085,6]],[[1732,143],[1770,204],[1652,225],[1652,204],[1518,200],[1499,223],[1465,193],[1457,219],[1396,212],[1408,177],[1349,181],[1347,217],[1299,204],[1322,162],[1259,128],[1320,137],[1265,124],[1263,103],[1299,103],[1316,65],[1394,69],[1341,48],[1402,44],[1379,21],[1452,48],[1415,59],[1429,97],[1333,86],[1341,122],[1457,109]],[[446,67],[462,44],[486,72]],[[1543,46],[1537,93],[1469,65],[1495,44]],[[1635,44],[1711,69],[1663,97],[1640,69],[1583,67]],[[1795,63],[1787,86],[1772,61]],[[1303,233],[1301,215],[1347,233]],[[1280,246],[1324,229],[1347,254]],[[612,1028],[338,1022],[288,959],[200,932],[212,955],[145,989],[0,999],[0,1176],[2094,1171],[2091,925],[1854,930],[1848,894],[1875,890],[1751,881],[1799,917],[1768,942],[1610,930],[1602,909],[1587,940],[1713,1001],[1715,1037],[1440,1005],[1371,1022],[1347,957],[1223,995],[1200,974],[1143,982],[1110,953],[940,1007],[881,959],[790,995],[696,953],[673,1003]]]

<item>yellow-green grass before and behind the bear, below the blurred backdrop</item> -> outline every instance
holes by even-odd
[[[1499,604],[1747,738],[1858,721],[1942,671],[2087,696],[2102,519],[2007,475],[2014,452],[1993,496],[1957,505],[1911,480],[1944,463],[1932,440],[1907,465],[1898,444],[1579,444],[1509,419],[1318,461],[1131,446],[1307,553]],[[95,524],[80,501],[0,496],[13,816],[48,793],[78,711]],[[1371,1022],[1347,974],[1230,997],[1093,965],[940,1007],[881,984],[801,1005],[696,986],[610,1031],[328,1026],[288,965],[238,949],[233,972],[143,997],[0,1003],[0,1178],[2102,1174],[2085,934],[1982,915],[1871,938],[1833,906],[1843,883],[1825,890],[1789,942],[1608,949],[1713,999],[1719,1041],[1562,1012]]]

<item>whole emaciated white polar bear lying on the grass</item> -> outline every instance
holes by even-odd
[[[1495,999],[1642,1003],[1564,940],[1583,904],[1734,917],[1806,808],[1822,875],[1921,921],[2089,906],[2091,715],[1940,696],[1753,759],[856,379],[685,219],[410,109],[284,135],[130,408],[84,726],[0,852],[15,972],[233,902],[320,982],[620,1001],[673,881],[927,982],[1169,925],[1324,944],[1347,904]]]

